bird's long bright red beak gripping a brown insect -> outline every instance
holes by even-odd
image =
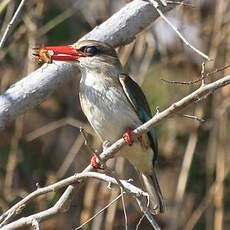
[[[44,46],[35,48],[34,55],[37,56],[40,61],[52,62],[56,61],[78,61],[80,57],[86,57],[82,52],[77,51],[71,45],[67,46]]]

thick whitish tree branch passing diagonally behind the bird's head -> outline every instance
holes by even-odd
[[[172,8],[172,5],[163,7],[162,11]],[[151,3],[134,0],[82,39],[100,40],[114,47],[125,45],[158,17]],[[0,129],[21,113],[41,103],[58,86],[76,76],[76,73],[77,69],[64,62],[43,65],[12,85],[0,96]]]

